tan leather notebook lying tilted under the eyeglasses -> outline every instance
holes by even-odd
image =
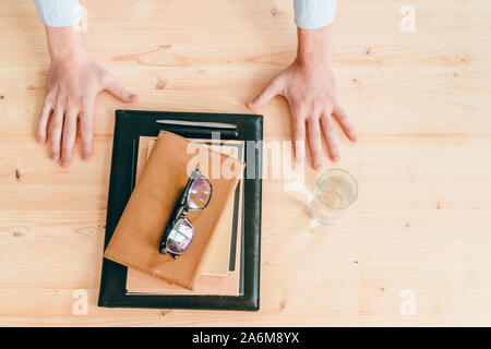
[[[214,168],[214,166],[224,167]],[[223,168],[227,169],[226,172]],[[141,172],[105,257],[194,289],[204,261],[216,237],[215,228],[224,214],[223,205],[233,195],[246,164],[212,152],[170,132],[161,131],[152,155]],[[184,188],[190,170],[199,168],[213,185],[205,209],[190,212],[195,234],[189,250],[175,260],[158,252],[158,244],[170,213]],[[218,176],[217,176],[218,174]]]

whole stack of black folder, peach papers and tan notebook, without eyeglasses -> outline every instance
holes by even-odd
[[[262,141],[261,116],[117,111],[99,305],[259,309],[262,144],[247,141]],[[212,198],[189,213],[196,232],[175,260],[157,246],[190,145],[236,173],[207,173]]]

